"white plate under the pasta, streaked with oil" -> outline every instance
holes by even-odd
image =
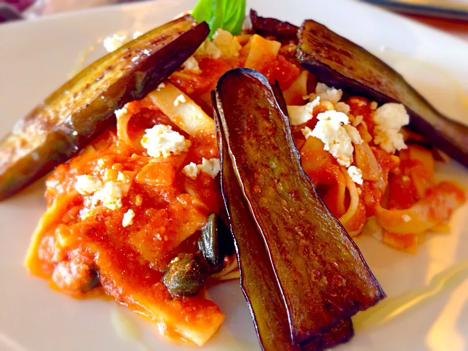
[[[57,88],[83,50],[98,38],[117,31],[148,30],[194,3],[160,0],[1,25],[1,134]],[[260,15],[296,24],[312,18],[330,26],[389,61],[440,110],[467,119],[465,42],[354,1],[252,0],[249,6]],[[98,48],[94,55],[102,53]],[[438,165],[438,169],[468,185],[468,173],[461,167],[452,163]],[[42,190],[39,184],[0,203],[0,350],[143,350],[140,342],[123,341],[117,335],[111,316],[120,312],[140,328],[137,340],[142,340],[146,350],[196,350],[166,343],[155,326],[115,303],[73,300],[25,272],[23,256],[45,210]],[[453,215],[451,233],[428,235],[416,255],[393,251],[372,237],[360,238],[358,244],[384,290],[390,297],[397,296],[423,289],[436,273],[468,257],[467,218],[468,206],[464,206]],[[468,350],[466,270],[449,283],[381,327],[358,331],[339,350]],[[218,286],[209,294],[227,317],[204,349],[258,350],[238,282]]]

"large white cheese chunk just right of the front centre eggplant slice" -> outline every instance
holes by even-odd
[[[351,137],[343,124],[349,123],[349,118],[342,112],[326,111],[317,115],[318,122],[312,130],[316,137],[325,144],[323,149],[329,151],[342,166],[349,167],[352,163],[354,148]],[[304,132],[303,132],[304,133]]]

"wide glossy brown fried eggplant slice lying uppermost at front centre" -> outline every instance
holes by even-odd
[[[302,343],[385,294],[302,170],[274,91],[256,71],[231,70],[218,81],[216,106],[234,172],[286,300],[293,341]]]

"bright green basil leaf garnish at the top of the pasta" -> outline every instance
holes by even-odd
[[[210,26],[210,38],[218,28],[233,35],[240,33],[245,18],[245,0],[199,0],[192,11],[198,22]]]

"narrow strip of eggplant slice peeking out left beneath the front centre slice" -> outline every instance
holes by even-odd
[[[215,126],[221,160],[221,189],[234,237],[240,284],[258,340],[265,351],[298,351],[299,347],[292,343],[288,314],[270,258],[234,174],[216,106]]]

